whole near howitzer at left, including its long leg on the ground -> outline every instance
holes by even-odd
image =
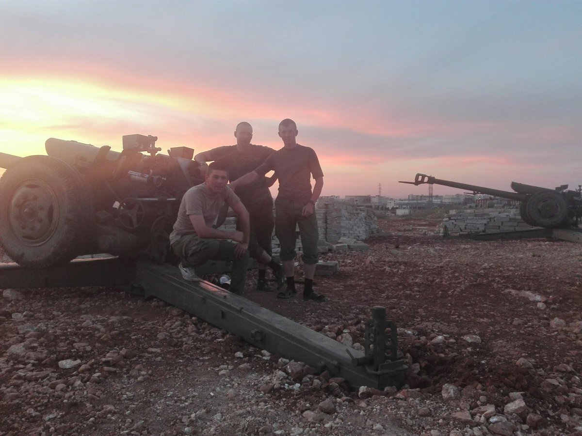
[[[230,294],[184,281],[163,263],[181,198],[201,183],[193,149],[157,154],[156,137],[126,135],[123,151],[50,138],[47,156],[0,153],[0,288],[114,286],[155,296],[253,346],[329,370],[357,388],[404,384],[397,329],[375,307],[364,352]],[[146,153],[146,154],[143,154]],[[220,219],[220,217],[219,217]],[[74,259],[95,253],[115,258]],[[155,260],[155,262],[154,262]],[[389,332],[389,333],[388,333]]]

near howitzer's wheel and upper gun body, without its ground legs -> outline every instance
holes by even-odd
[[[80,255],[163,262],[182,195],[201,183],[194,150],[158,154],[157,137],[123,136],[123,151],[49,138],[47,156],[0,153],[0,246],[22,266]]]

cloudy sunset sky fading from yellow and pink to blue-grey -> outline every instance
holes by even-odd
[[[582,1],[5,0],[0,41],[0,152],[200,152],[242,120],[279,149],[289,117],[322,195],[582,184]]]

